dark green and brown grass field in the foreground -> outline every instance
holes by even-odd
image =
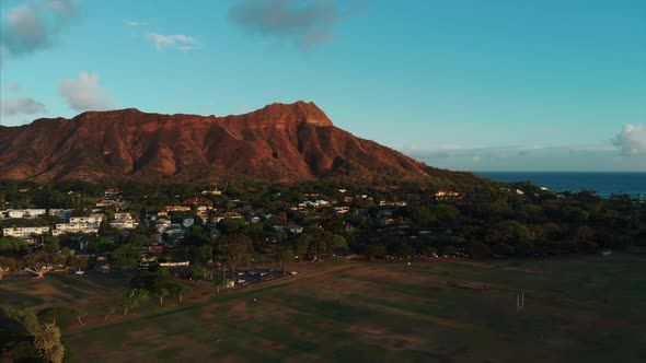
[[[646,258],[296,265],[296,277],[103,321],[118,276],[0,282],[2,302],[84,304],[81,362],[643,362]],[[516,312],[523,291],[526,311]],[[94,317],[92,317],[94,315]]]

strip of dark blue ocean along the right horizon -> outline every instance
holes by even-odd
[[[475,174],[505,183],[529,180],[539,187],[554,191],[580,191],[591,189],[600,197],[627,194],[644,199],[646,173],[575,173],[575,172],[476,172]]]

